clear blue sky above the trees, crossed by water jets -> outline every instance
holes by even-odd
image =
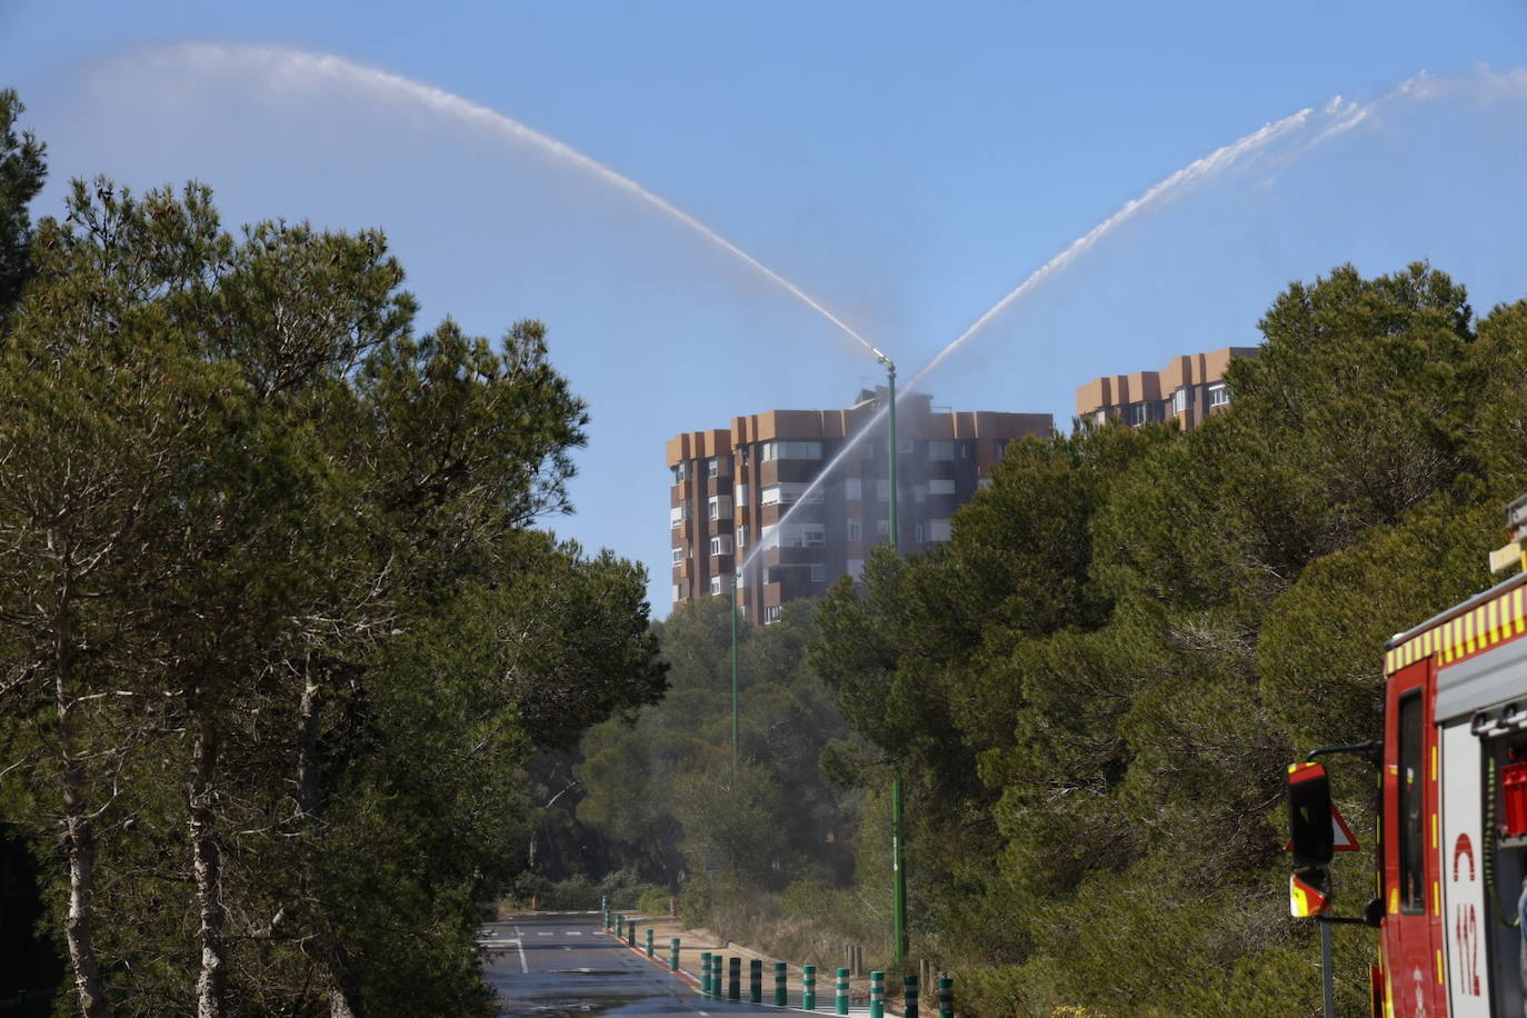
[[[486,110],[705,223],[902,377],[1151,194],[925,379],[960,409],[1064,423],[1077,385],[1254,343],[1280,288],[1342,261],[1431,259],[1481,311],[1527,296],[1524,0],[0,0],[0,84],[50,147],[40,215],[73,176],[197,177],[231,224],[380,226],[421,327],[547,322],[592,412],[579,511],[551,525],[647,563],[658,615],[663,443],[880,374]]]

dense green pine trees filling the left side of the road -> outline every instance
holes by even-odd
[[[493,1013],[473,928],[536,752],[664,685],[643,569],[533,528],[582,401],[536,322],[415,334],[376,232],[104,179],[34,229],[18,111],[0,818],[60,1012]]]

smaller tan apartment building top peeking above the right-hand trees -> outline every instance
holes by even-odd
[[[1183,430],[1229,406],[1225,368],[1235,357],[1255,357],[1255,346],[1223,346],[1206,354],[1173,357],[1161,371],[1093,379],[1077,388],[1077,417],[1122,420],[1132,427],[1176,420]]]

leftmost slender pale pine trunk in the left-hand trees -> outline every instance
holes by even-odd
[[[64,936],[69,962],[75,969],[75,991],[84,1018],[105,1018],[111,1013],[101,983],[101,965],[95,952],[95,824],[86,806],[86,774],[75,759],[75,646],[67,617],[53,629],[53,704],[58,710],[58,754],[63,759],[64,783],[64,846],[69,855],[69,916]]]

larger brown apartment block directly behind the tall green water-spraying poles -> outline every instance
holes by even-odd
[[[875,421],[884,401],[884,388],[866,389],[847,409],[767,411],[669,440],[673,603],[730,595],[747,562],[738,601],[770,623],[786,601],[858,577],[869,549],[890,540],[887,429]],[[954,510],[1003,447],[1052,429],[1049,414],[954,412],[924,394],[898,395],[902,551],[948,540]]]

